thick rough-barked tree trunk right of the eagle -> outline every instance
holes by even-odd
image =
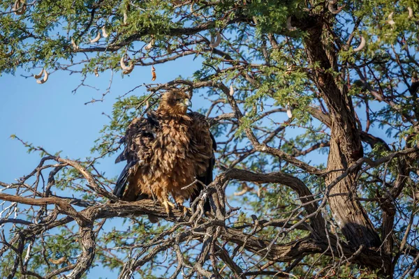
[[[323,44],[321,22],[316,22],[307,31],[308,36],[304,43],[307,47],[309,62],[311,66],[319,65],[315,68],[314,82],[330,113],[331,138],[328,157],[330,174],[325,178],[326,183],[329,184],[342,174],[341,169],[347,169],[362,157],[362,144],[356,127],[351,98],[347,95],[345,86],[339,89],[331,73],[337,68],[336,52],[330,51],[332,45]],[[326,47],[329,48],[328,51]],[[381,241],[374,226],[360,202],[353,199],[356,174],[356,171],[349,174],[332,188],[330,195],[343,195],[330,197],[330,209],[344,236],[353,246],[378,247]]]

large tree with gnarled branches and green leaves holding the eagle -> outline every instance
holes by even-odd
[[[105,70],[156,75],[154,65],[184,56],[199,67],[118,98],[93,148],[99,156],[61,158],[25,142],[42,158],[19,181],[0,182],[4,276],[81,278],[94,264],[119,269],[119,278],[418,276],[416,1],[1,7],[1,73],[43,68],[43,83],[62,70],[84,84]],[[211,197],[208,216],[119,201],[115,177],[98,165],[115,155],[128,121],[172,87],[210,102],[202,112],[219,150],[218,175],[201,193]],[[124,227],[104,231],[110,218]]]

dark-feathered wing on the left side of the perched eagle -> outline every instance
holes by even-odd
[[[126,160],[126,166],[122,170],[117,180],[114,195],[125,199],[124,193],[129,179],[135,175],[138,167],[147,161],[149,156],[152,156],[151,145],[154,137],[159,130],[159,121],[156,112],[149,112],[147,118],[134,119],[126,129],[126,134],[121,139],[125,148],[115,160],[115,163]],[[129,193],[132,193],[129,191]],[[135,200],[136,197],[128,197],[128,199]]]

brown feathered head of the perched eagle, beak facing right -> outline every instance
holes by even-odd
[[[191,105],[188,94],[184,93],[184,91],[172,89],[161,96],[159,111],[166,112],[172,116],[184,115]]]

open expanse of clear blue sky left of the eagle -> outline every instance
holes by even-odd
[[[179,61],[154,66],[156,82],[168,82],[179,75],[191,76],[194,68],[200,63],[193,62],[192,56],[186,56]],[[38,73],[34,69],[31,73]],[[111,92],[103,102],[84,105],[91,98],[101,98],[108,87],[110,70],[101,73],[99,77],[92,75],[87,84],[97,87],[81,87],[77,93],[72,93],[80,84],[80,75],[68,75],[66,72],[56,72],[50,75],[45,84],[37,84],[33,77],[23,70],[13,75],[0,77],[0,181],[11,183],[14,179],[29,174],[38,165],[38,153],[27,153],[27,149],[10,135],[17,135],[35,146],[43,146],[47,151],[61,152],[61,157],[85,158],[91,156],[90,149],[94,146],[99,131],[109,119],[105,114],[112,113],[115,98],[138,86],[151,82],[151,68],[136,67],[129,77],[122,78],[115,73]],[[134,94],[145,93],[145,87],[136,89]],[[202,107],[202,99],[196,94],[193,97],[193,110]],[[107,176],[117,176],[124,164],[114,164],[115,158],[105,158],[101,161],[100,170]],[[110,229],[120,220],[112,219],[105,229]],[[117,272],[110,272],[97,266],[87,275],[88,278],[117,278]]]

